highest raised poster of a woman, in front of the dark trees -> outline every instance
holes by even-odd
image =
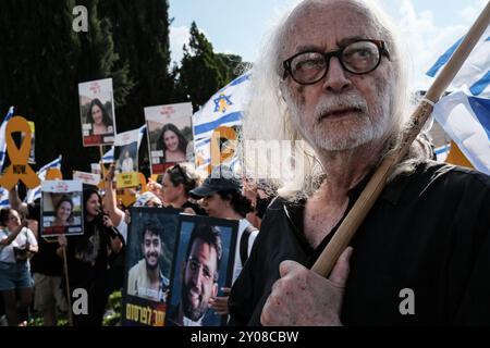
[[[78,84],[82,139],[85,147],[114,142],[112,78]]]

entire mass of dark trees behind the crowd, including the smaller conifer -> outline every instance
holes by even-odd
[[[88,33],[72,29],[76,5],[88,10]],[[168,8],[167,0],[2,0],[0,120],[15,105],[35,122],[35,169],[62,154],[71,177],[99,160],[97,148],[82,146],[81,82],[113,79],[124,132],[144,124],[145,107],[192,100],[197,109],[240,74],[242,59],[215,53],[195,23],[182,65],[170,69]]]

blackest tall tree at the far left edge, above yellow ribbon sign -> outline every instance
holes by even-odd
[[[36,123],[37,163],[64,154],[77,135],[79,42],[72,30],[74,1],[2,1],[0,11],[0,112]],[[71,138],[68,135],[71,134]],[[71,140],[69,140],[71,139]]]

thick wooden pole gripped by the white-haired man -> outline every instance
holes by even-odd
[[[432,113],[434,103],[451,84],[457,72],[462,67],[469,53],[483,35],[490,23],[490,2],[476,20],[464,40],[451,57],[448,64],[438,75],[432,86],[427,91],[425,98],[412,115],[409,126],[402,134],[400,145],[387,156],[368,185],[355,202],[354,207],[345,216],[339,229],[333,235],[331,241],[323,249],[311,270],[320,275],[328,276],[333,269],[341,253],[347,248],[357,228],[363,223],[369,210],[375,204],[377,198],[383,190],[387,179],[393,172],[394,166],[402,161],[408,152],[412,142],[424,127],[427,119]]]

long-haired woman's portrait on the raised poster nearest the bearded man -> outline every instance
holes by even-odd
[[[184,162],[187,140],[174,124],[168,123],[157,141],[157,150],[163,151],[164,162]]]

